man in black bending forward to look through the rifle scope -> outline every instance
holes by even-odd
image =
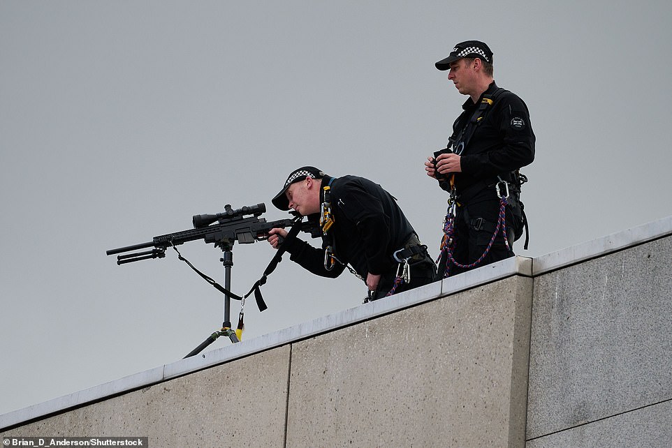
[[[280,210],[294,209],[319,221],[322,248],[288,238],[282,245],[291,260],[313,274],[335,278],[348,264],[370,290],[370,299],[430,283],[435,266],[395,198],[374,182],[357,176],[330,177],[316,167],[289,174],[272,200]],[[274,248],[284,229],[272,229]]]

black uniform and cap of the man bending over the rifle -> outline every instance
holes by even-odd
[[[314,167],[304,167],[302,177],[318,173]],[[297,170],[299,171],[299,170]],[[322,173],[319,172],[321,175]],[[318,176],[319,176],[318,175]],[[292,178],[288,178],[288,182]],[[313,177],[313,176],[311,176]],[[322,248],[314,248],[298,238],[284,241],[291,260],[313,274],[335,278],[350,264],[358,276],[365,279],[367,274],[381,275],[379,286],[372,299],[385,297],[393,288],[397,262],[393,254],[404,248],[415,248],[410,262],[410,282],[402,283],[396,292],[402,292],[433,281],[435,265],[428,255],[413,227],[397,205],[395,198],[381,186],[363,177],[343,176],[333,178],[323,174],[322,186],[330,187],[330,203],[334,224],[323,236]],[[287,186],[287,183],[286,183]],[[284,190],[281,191],[284,195]],[[273,203],[279,209],[288,207],[282,195]],[[324,202],[321,188],[320,202]],[[309,216],[319,221],[319,216]],[[335,263],[328,270],[325,267],[325,248],[333,247]]]

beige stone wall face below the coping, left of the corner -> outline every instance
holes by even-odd
[[[510,276],[3,435],[149,435],[180,447],[523,446],[531,292],[531,278]]]

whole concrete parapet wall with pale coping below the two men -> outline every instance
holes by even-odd
[[[666,218],[504,260],[2,415],[1,435],[149,436],[166,447],[666,447],[671,234]]]

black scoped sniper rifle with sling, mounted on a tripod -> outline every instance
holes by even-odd
[[[222,324],[221,331],[215,331],[196,349],[187,354],[187,357],[198,354],[198,352],[207,347],[207,345],[210,345],[210,343],[214,342],[214,340],[219,336],[226,335],[231,338],[231,341],[234,343],[240,340],[240,334],[242,333],[242,305],[240,319],[238,322],[238,329],[240,332],[236,334],[236,332],[231,330],[231,315],[229,311],[231,298],[240,300],[242,301],[242,304],[244,304],[244,299],[247,298],[249,294],[254,292],[259,310],[264,311],[266,308],[268,308],[263,301],[263,297],[261,297],[261,290],[259,288],[264,285],[264,283],[266,283],[267,276],[275,270],[277,264],[282,260],[284,248],[282,245],[279,247],[270,264],[268,264],[268,267],[266,267],[263,276],[258,281],[256,281],[256,283],[254,283],[251,290],[249,290],[249,292],[245,294],[244,297],[240,297],[231,292],[231,267],[233,267],[232,250],[235,241],[238,241],[240,244],[251,244],[255,241],[263,241],[268,239],[268,232],[270,232],[271,229],[285,227],[291,227],[288,237],[295,237],[296,234],[298,234],[300,231],[309,232],[314,238],[320,236],[320,229],[317,223],[312,223],[310,221],[302,222],[302,217],[298,214],[295,214],[295,217],[291,219],[266,221],[265,218],[260,217],[263,213],[265,213],[265,211],[266,206],[263,203],[249,207],[242,207],[236,210],[232,209],[231,205],[226,204],[224,207],[224,213],[193,216],[193,229],[159,235],[147,243],[110,249],[109,251],[105,252],[107,255],[117,255],[119,253],[140,251],[141,249],[152,248],[149,251],[117,255],[117,264],[126,264],[140,260],[147,260],[149,258],[163,258],[166,256],[166,249],[173,247],[177,252],[180,260],[189,264],[189,267],[196,271],[198,275],[203,277],[205,281],[214,286],[214,288],[217,288],[217,290],[220,292],[224,293],[224,322]],[[195,241],[196,239],[203,239],[206,243],[213,243],[215,247],[221,248],[221,251],[224,253],[224,257],[222,257],[220,260],[224,263],[224,288],[212,280],[212,278],[198,271],[196,267],[193,267],[193,264],[182,257],[180,252],[177,251],[177,248],[175,247],[179,246],[180,244],[184,244],[187,241]]]

